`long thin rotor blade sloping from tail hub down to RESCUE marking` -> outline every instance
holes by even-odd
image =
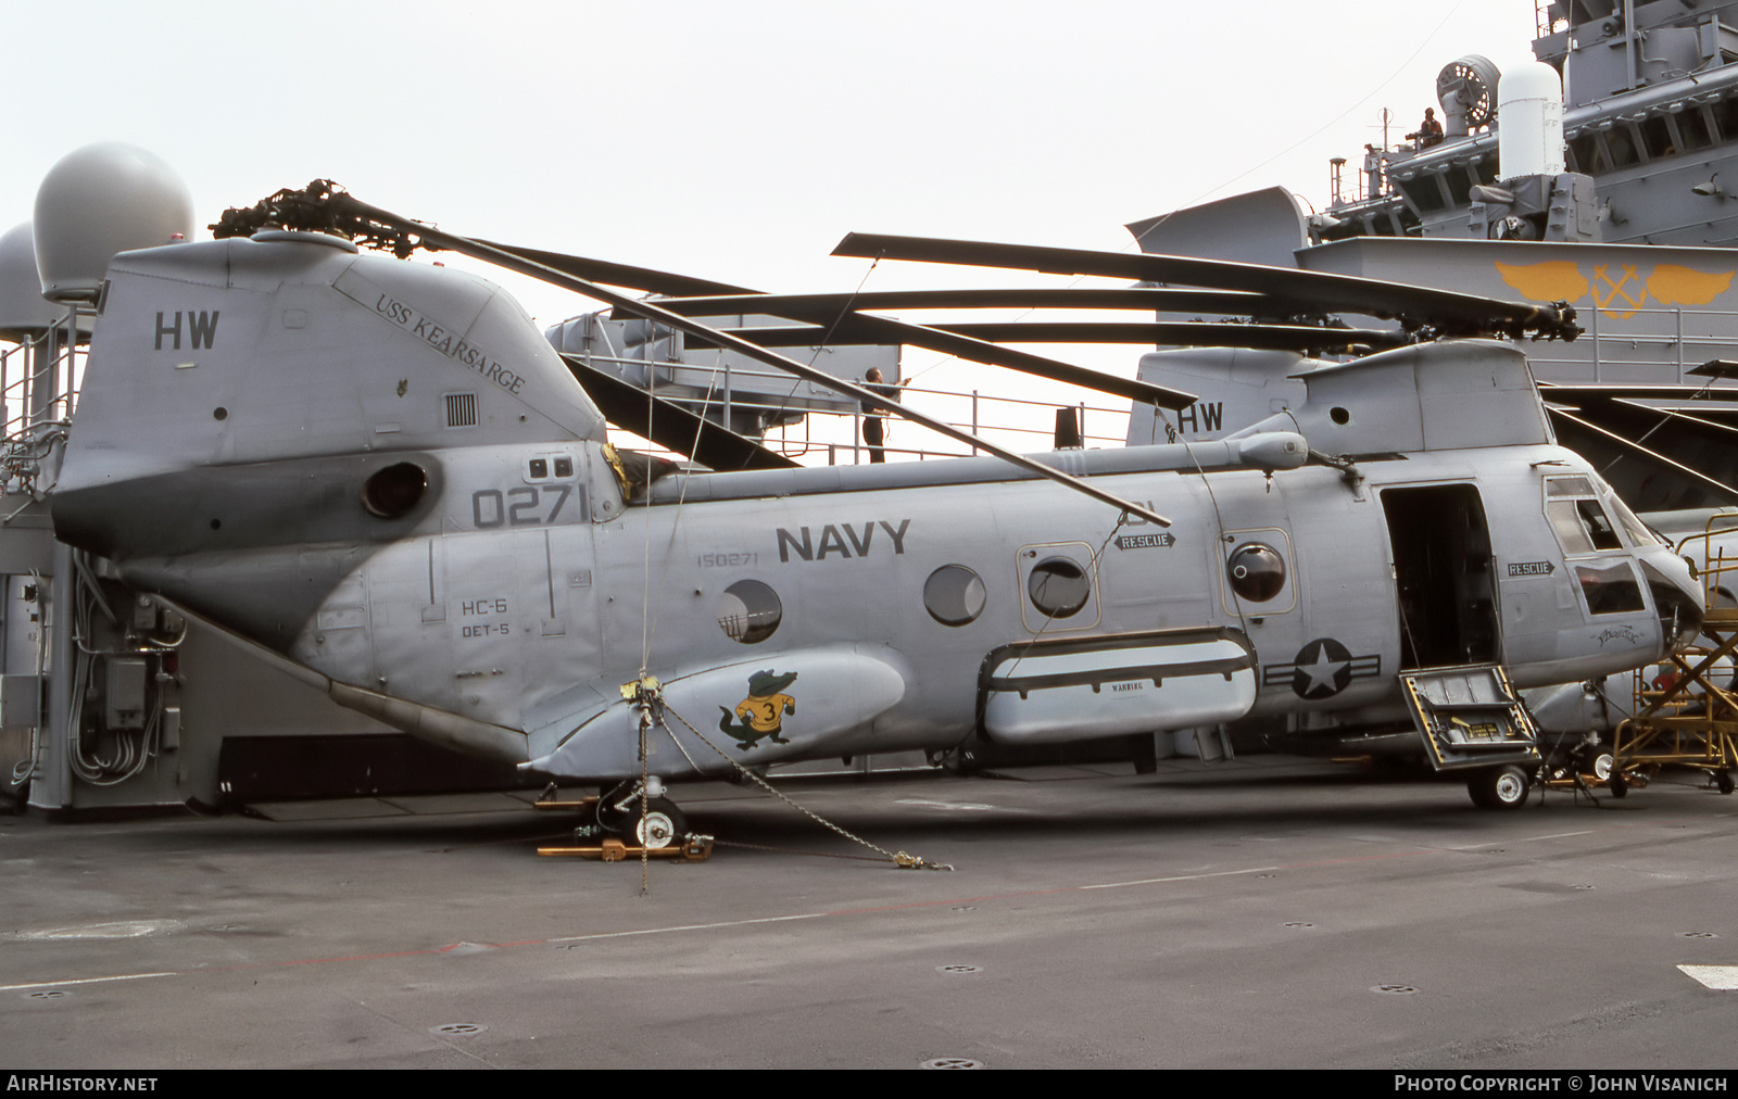
[[[372,219],[372,221],[381,223],[381,224],[393,226],[393,228],[407,231],[407,233],[414,233],[417,238],[421,238],[422,243],[431,243],[434,247],[447,249],[448,252],[459,252],[461,256],[471,256],[473,259],[485,259],[485,261],[499,264],[499,266],[502,266],[502,268],[506,268],[509,271],[518,271],[521,275],[530,275],[532,278],[541,278],[541,280],[544,280],[547,283],[553,283],[553,285],[558,285],[558,287],[567,287],[568,290],[575,290],[579,294],[584,294],[586,297],[594,297],[594,299],[598,299],[601,303],[615,306],[617,310],[627,310],[629,313],[638,313],[645,320],[653,320],[653,322],[669,325],[669,327],[673,327],[673,329],[676,329],[680,332],[687,332],[690,336],[702,336],[702,337],[713,339],[721,348],[735,351],[737,355],[744,355],[744,356],[753,358],[756,362],[763,362],[763,363],[766,363],[770,367],[779,367],[780,370],[787,370],[791,374],[796,374],[803,381],[812,381],[812,383],[815,383],[819,386],[826,386],[829,390],[843,393],[843,395],[850,396],[852,400],[860,402],[862,407],[866,407],[866,409],[879,409],[879,410],[890,412],[893,416],[902,416],[904,419],[909,419],[912,423],[923,424],[925,428],[928,428],[928,430],[932,430],[932,431],[935,431],[939,435],[945,435],[947,438],[952,438],[956,442],[966,443],[970,447],[977,447],[978,450],[984,450],[985,454],[994,454],[996,457],[999,457],[999,459],[1003,459],[1003,461],[1006,461],[1006,463],[1010,463],[1013,466],[1018,466],[1022,470],[1029,470],[1029,471],[1032,471],[1032,473],[1036,473],[1039,476],[1045,476],[1045,478],[1050,478],[1050,480],[1058,482],[1062,485],[1067,485],[1069,489],[1074,489],[1076,492],[1079,492],[1083,496],[1090,496],[1090,497],[1093,497],[1093,499],[1097,499],[1097,501],[1100,501],[1104,504],[1111,504],[1112,508],[1116,508],[1119,511],[1126,511],[1128,515],[1137,515],[1137,516],[1147,520],[1149,523],[1158,523],[1159,527],[1170,527],[1171,525],[1171,520],[1168,520],[1163,515],[1156,513],[1152,508],[1147,508],[1144,504],[1137,504],[1135,501],[1123,499],[1121,496],[1116,496],[1114,492],[1100,489],[1098,485],[1093,485],[1088,480],[1083,480],[1079,476],[1071,476],[1067,473],[1060,473],[1058,470],[1053,470],[1053,468],[1050,468],[1050,466],[1046,466],[1046,464],[1043,464],[1039,461],[1034,461],[1034,459],[1031,459],[1031,457],[1027,457],[1024,454],[1017,454],[1017,452],[1013,452],[1013,450],[1010,450],[1006,447],[999,447],[999,445],[996,445],[996,443],[992,443],[989,440],[978,438],[977,435],[972,435],[970,431],[961,431],[959,428],[956,428],[956,426],[952,426],[952,424],[949,424],[945,421],[935,419],[933,416],[928,416],[925,412],[918,412],[914,409],[905,409],[897,400],[888,400],[886,396],[881,396],[879,393],[872,393],[871,390],[866,390],[866,388],[862,388],[859,384],[853,384],[853,383],[843,381],[839,377],[834,377],[834,376],[827,374],[826,370],[817,370],[817,369],[803,365],[803,363],[799,363],[799,362],[796,362],[793,358],[786,358],[784,355],[777,355],[777,353],[768,351],[765,348],[758,348],[758,346],[751,344],[746,339],[739,339],[735,336],[726,336],[726,334],[718,332],[714,329],[707,329],[706,325],[702,325],[699,322],[688,320],[687,316],[678,316],[676,313],[671,313],[669,310],[659,308],[657,304],[653,304],[650,301],[634,301],[634,299],[627,297],[626,294],[617,294],[615,290],[608,290],[605,287],[600,287],[598,283],[589,282],[586,278],[580,278],[579,275],[568,275],[565,271],[558,271],[554,268],[544,266],[544,264],[541,264],[541,263],[537,263],[534,259],[525,259],[523,256],[514,256],[513,252],[502,252],[501,249],[495,249],[495,247],[490,247],[490,245],[469,240],[466,236],[459,236],[459,235],[448,233],[445,230],[436,230],[436,228],[422,224],[419,221],[412,221],[408,217],[401,217],[401,216],[393,214],[389,210],[382,210],[381,207],[368,205],[368,203],[362,202],[360,198],[355,198],[355,196],[351,196],[351,195],[348,195],[344,191],[332,193],[328,196],[327,203],[335,212],[342,212],[342,214],[348,214],[348,216],[353,216],[353,217]]]

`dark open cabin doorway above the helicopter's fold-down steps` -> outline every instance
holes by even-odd
[[[1383,489],[1401,617],[1401,668],[1500,659],[1484,504],[1470,483]]]

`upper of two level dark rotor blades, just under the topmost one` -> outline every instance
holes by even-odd
[[[659,301],[659,304],[683,316],[760,313],[766,316],[787,316],[791,320],[798,316],[838,316],[843,310],[1140,310],[1151,313],[1217,313],[1220,316],[1286,316],[1297,311],[1284,308],[1295,303],[1281,303],[1265,294],[1246,290],[1170,290],[1149,287],[739,294],[671,297]]]

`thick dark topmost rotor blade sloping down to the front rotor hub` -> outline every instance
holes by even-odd
[[[1453,334],[1505,332],[1519,336],[1536,330],[1547,337],[1573,339],[1580,327],[1569,308],[1496,301],[1472,294],[1432,290],[1403,283],[1326,275],[1295,268],[1270,268],[1222,259],[1154,256],[1149,252],[1091,252],[1085,249],[1048,249],[978,240],[940,240],[930,236],[888,236],[850,233],[833,250],[834,256],[864,259],[912,259],[978,268],[1013,268],[1058,275],[1104,275],[1138,282],[1184,283],[1222,290],[1276,294],[1310,308],[1333,313],[1356,311],[1371,316],[1429,323]]]

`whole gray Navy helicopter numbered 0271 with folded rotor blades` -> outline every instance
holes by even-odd
[[[584,275],[643,271],[474,242],[327,183],[216,228],[109,261],[56,536],[342,706],[600,784],[608,824],[648,845],[683,831],[671,779],[1291,711],[1337,718],[1335,736],[1411,722],[1415,751],[1512,807],[1538,760],[1517,689],[1644,664],[1700,624],[1684,562],[1554,445],[1526,356],[1474,339],[1573,336],[1568,310],[1128,257],[1140,278],[1164,266],[1260,297],[1257,313],[1397,316],[1422,343],[1312,363],[1302,403],[1220,442],[1017,456],[685,315],[740,313],[713,301],[739,287],[640,301]],[[641,398],[733,471],[636,459],[502,290],[358,240],[487,257],[991,456],[780,468]]]

